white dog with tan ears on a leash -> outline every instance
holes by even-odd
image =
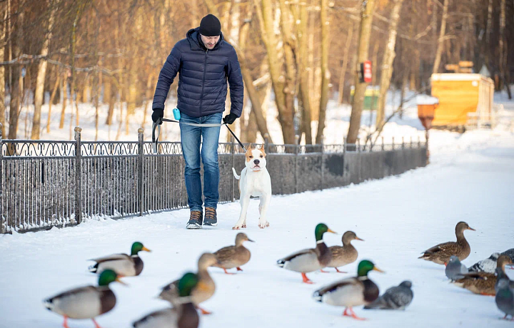
[[[266,153],[264,152],[264,145],[261,148],[248,148],[245,153],[246,168],[241,171],[241,176],[237,175],[236,170],[232,168],[233,175],[239,180],[239,193],[241,194],[239,201],[241,202],[241,214],[233,230],[246,228],[246,211],[250,203],[250,196],[258,197],[261,200],[259,204],[259,217],[258,226],[261,229],[269,227],[266,220],[266,212],[269,203],[271,202],[271,178],[268,170],[266,170]]]

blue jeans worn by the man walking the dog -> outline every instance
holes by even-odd
[[[183,124],[188,123],[221,123],[223,113],[214,113],[200,118],[193,118],[181,113],[181,144],[184,160],[186,160],[186,190],[188,205],[191,210],[202,210],[202,186],[200,179],[200,155],[203,163],[203,195],[205,206],[216,209],[219,192],[218,140],[220,127],[201,128]],[[200,152],[200,139],[203,139]]]

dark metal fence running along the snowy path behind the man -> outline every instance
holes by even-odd
[[[373,145],[265,143],[273,194],[287,195],[397,175],[426,163],[417,140]],[[244,168],[237,143],[220,143],[220,203],[238,200],[232,169]],[[76,225],[84,218],[127,217],[187,206],[180,143],[158,153],[138,141],[2,140],[0,127],[0,233]],[[203,175],[203,172],[201,172]]]

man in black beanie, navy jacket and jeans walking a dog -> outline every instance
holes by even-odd
[[[173,79],[178,75],[177,108],[181,111],[181,145],[186,169],[186,190],[191,209],[188,229],[218,225],[216,207],[219,193],[218,139],[220,127],[198,127],[187,123],[221,123],[225,110],[227,81],[230,85],[231,111],[223,123],[232,124],[243,109],[243,78],[234,48],[223,41],[220,21],[211,14],[200,27],[191,29],[178,41],[159,74],[153,96],[152,121],[164,115],[164,103]],[[200,140],[202,147],[200,150]],[[200,158],[203,162],[202,211]]]

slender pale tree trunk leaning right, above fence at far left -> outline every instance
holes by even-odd
[[[51,6],[50,2],[47,1],[49,6]],[[49,18],[49,34],[46,37],[43,48],[41,49],[41,56],[46,56],[49,53],[49,42],[52,37],[52,29],[54,27],[54,16],[56,13],[56,6],[51,9],[51,14]],[[39,61],[38,75],[36,78],[36,93],[34,95],[34,119],[32,123],[32,133],[31,139],[38,140],[39,132],[41,130],[41,106],[43,105],[43,97],[44,97],[44,81],[46,78],[46,60]]]

